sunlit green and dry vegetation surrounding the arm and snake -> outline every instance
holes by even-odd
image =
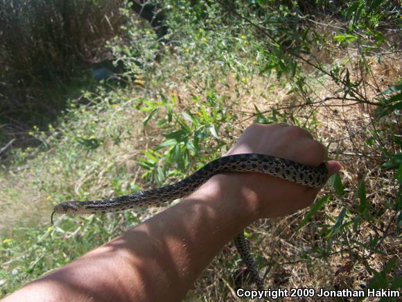
[[[400,289],[398,1],[155,2],[168,28],[163,43],[123,3],[125,22],[105,46],[123,62],[126,84],[67,99],[57,123],[27,131],[40,143],[12,147],[1,166],[1,294],[163,210],[57,217],[52,227],[53,205],[177,181],[222,156],[253,121],[306,128],[343,165],[311,208],[247,228],[266,287]],[[104,12],[103,1],[88,3]],[[238,265],[234,246],[225,247],[187,299],[234,299],[250,282]]]

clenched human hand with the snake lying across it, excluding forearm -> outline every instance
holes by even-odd
[[[261,153],[319,166],[327,156],[325,146],[297,126],[288,124],[253,124],[226,155]],[[340,162],[326,162],[329,176],[337,173]],[[249,203],[254,219],[279,217],[295,212],[313,203],[320,189],[298,185],[281,178],[261,173],[227,174],[228,190]],[[229,183],[227,183],[227,181]],[[224,189],[225,190],[225,189]]]

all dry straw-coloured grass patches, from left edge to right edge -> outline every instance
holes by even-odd
[[[352,81],[361,76],[360,66],[353,59],[353,51],[349,51],[346,56],[342,51],[338,56],[340,61],[349,56],[350,60],[345,66],[353,71],[351,73]],[[139,113],[135,106],[132,106],[130,100],[144,97],[155,101],[160,95],[174,94],[179,103],[175,110],[179,112],[183,108],[195,108],[191,97],[193,95],[204,97],[204,90],[210,88],[197,77],[184,82],[182,78],[186,73],[186,67],[181,67],[180,63],[175,60],[176,58],[172,57],[171,62],[165,62],[168,66],[166,68],[175,72],[171,73],[163,86],[157,83],[159,86],[155,86],[158,89],[156,93],[153,89],[155,87],[152,86],[152,78],[147,79],[150,83],[149,90],[136,91],[135,97],[134,93],[128,94],[128,99],[119,103],[116,110],[107,110],[103,112],[105,116],[98,117],[97,127],[106,130],[103,132],[105,135],[103,146],[93,152],[94,156],[88,159],[88,167],[85,169],[81,167],[82,174],[71,173],[63,178],[54,178],[54,187],[58,192],[69,192],[80,196],[82,191],[86,190],[85,196],[88,198],[109,196],[111,192],[108,177],[110,169],[122,169],[121,171],[124,171],[128,177],[132,177],[134,183],[143,184],[140,178],[141,169],[134,165],[134,158],[140,156],[139,150],[152,149],[163,140],[163,137],[155,121],[151,120],[146,129],[143,129],[141,120],[144,113]],[[325,62],[326,59],[322,58],[322,60]],[[378,91],[385,90],[388,85],[395,82],[396,78],[401,77],[401,61],[392,54],[384,56],[383,62],[376,62],[374,58],[369,57],[367,66],[369,72],[363,74],[365,85],[362,86],[361,92],[370,100],[378,94]],[[163,68],[161,67],[161,69]],[[180,68],[182,68],[181,71]],[[166,71],[161,70],[161,72]],[[343,206],[347,206],[351,212],[358,207],[355,195],[358,181],[362,178],[365,179],[367,203],[372,206],[376,219],[363,222],[354,239],[367,242],[369,234],[384,235],[387,233],[389,221],[392,221],[394,214],[384,207],[384,203],[388,199],[394,199],[396,194],[394,183],[392,183],[392,172],[381,169],[384,159],[378,146],[367,144],[367,139],[372,137],[374,130],[372,119],[374,119],[375,108],[369,104],[344,101],[342,98],[323,101],[328,97],[336,97],[338,89],[326,77],[310,79],[314,100],[312,104],[306,106],[302,95],[296,92],[288,94],[291,87],[277,81],[275,75],[268,77],[256,76],[256,74],[247,78],[247,81],[242,81],[233,74],[216,78],[214,84],[216,95],[225,99],[232,115],[238,115],[238,123],[233,125],[233,133],[230,137],[223,138],[225,142],[229,146],[233,144],[243,129],[254,121],[256,117],[254,106],[267,115],[276,109],[283,114],[283,117],[279,117],[279,119],[292,124],[293,120],[290,117],[294,117],[301,126],[311,131],[317,140],[329,146],[329,158],[337,157],[342,162],[343,167],[340,174],[346,188],[346,194],[342,199],[333,196],[331,201],[317,212],[300,231],[297,231],[297,226],[308,210],[301,210],[280,219],[258,221],[247,228],[247,232],[251,235],[254,255],[258,257],[259,266],[263,268],[261,274],[267,272],[265,286],[283,289],[291,287],[360,289],[365,287],[372,277],[367,272],[365,263],[368,263],[373,269],[381,271],[383,264],[393,256],[399,259],[395,271],[401,271],[399,258],[401,239],[394,235],[384,237],[381,250],[385,255],[364,254],[362,249],[352,249],[350,243],[334,244],[333,250],[327,255],[317,252],[318,248],[325,249],[326,239],[320,235],[323,225],[332,225],[333,219],[338,216]],[[201,99],[201,101],[203,100]],[[123,133],[121,142],[118,144],[115,144],[107,134],[108,129],[116,128],[116,125],[110,124],[116,119],[119,119],[119,123],[125,124],[125,131],[130,129]],[[79,125],[78,128],[85,126]],[[389,124],[386,121],[381,125],[383,128],[387,126]],[[385,146],[393,147],[389,137],[381,137],[381,139]],[[14,175],[8,174],[7,178],[0,178],[1,188],[13,187],[12,194],[24,192],[21,194],[24,203],[34,204],[34,208],[37,208],[37,217],[42,217],[37,221],[48,219],[51,208],[50,201],[46,201],[47,197],[41,192],[40,185],[29,187],[25,183],[31,183],[35,178],[40,179],[42,175],[48,174],[49,167],[54,168],[54,165],[51,161],[45,161],[43,167],[38,174],[24,174],[27,176],[24,180],[18,179],[18,172]],[[61,172],[61,170],[58,171]],[[57,176],[57,173],[53,175]],[[62,183],[58,183],[59,181]],[[320,196],[330,192],[333,192],[331,186],[326,185],[320,192]],[[10,196],[10,194],[6,194],[6,196]],[[0,199],[2,198],[4,197],[0,196]],[[15,209],[18,206],[19,204],[10,205],[6,212],[1,213],[1,217],[4,218],[4,226],[12,226],[15,220],[29,217],[28,208],[25,212],[23,210],[16,214]],[[161,208],[150,208],[146,212],[141,212],[141,219],[155,215],[160,210]],[[30,214],[32,217],[32,212]],[[225,246],[200,276],[186,300],[225,301],[236,299],[237,286],[251,287],[247,280],[242,280],[246,277],[245,267],[238,269],[238,265],[241,265],[241,260],[236,254],[234,246]]]

